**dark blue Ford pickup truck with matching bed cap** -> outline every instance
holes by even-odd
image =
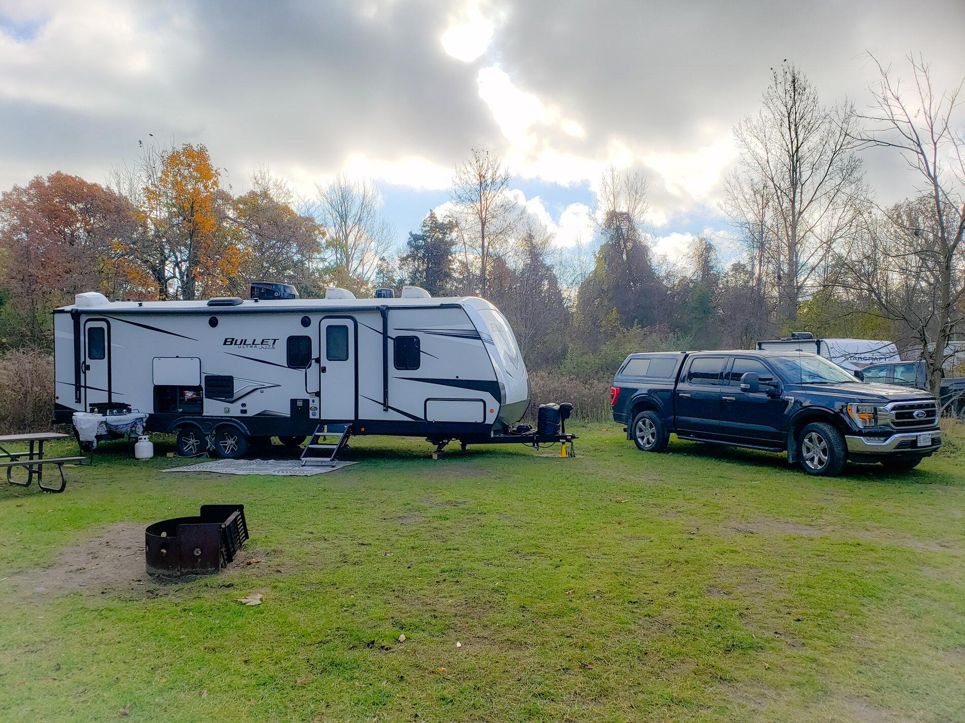
[[[912,469],[941,446],[935,398],[866,384],[816,354],[631,354],[610,389],[613,418],[647,452],[682,440],[787,452],[809,474],[844,463]]]

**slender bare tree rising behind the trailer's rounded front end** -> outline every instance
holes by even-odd
[[[498,240],[512,221],[513,204],[507,196],[510,173],[498,156],[488,150],[469,154],[455,168],[450,196],[458,206],[454,214],[459,223],[459,235],[468,248],[467,236],[472,234],[479,249],[480,294],[486,293],[486,265],[494,240]],[[468,251],[466,252],[468,260]]]

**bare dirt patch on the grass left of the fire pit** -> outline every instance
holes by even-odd
[[[144,527],[134,522],[112,524],[91,540],[61,549],[50,567],[17,573],[5,584],[20,600],[131,589],[150,580],[144,567]]]

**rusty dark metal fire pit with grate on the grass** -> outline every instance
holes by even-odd
[[[198,517],[178,517],[148,526],[148,573],[168,577],[217,573],[247,539],[244,505],[203,504]]]

